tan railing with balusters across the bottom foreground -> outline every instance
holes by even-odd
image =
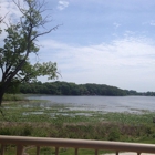
[[[79,148],[94,149],[94,155],[99,155],[100,149],[113,151],[118,155],[120,152],[135,152],[137,155],[141,153],[155,154],[154,144],[137,144],[137,143],[123,143],[123,142],[107,142],[107,141],[89,141],[89,140],[70,140],[70,138],[46,138],[46,137],[25,137],[25,136],[1,136],[1,154],[4,155],[4,146],[8,144],[17,145],[17,155],[23,154],[24,146],[35,146],[37,155],[40,155],[41,146],[55,147],[55,155],[59,155],[60,147],[74,148],[78,155]]]

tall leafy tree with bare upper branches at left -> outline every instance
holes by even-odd
[[[37,62],[32,65],[29,61],[30,53],[38,54],[39,46],[35,41],[39,37],[56,30],[59,25],[39,32],[40,28],[44,28],[48,22],[48,16],[43,18],[46,11],[44,0],[23,0],[24,8],[21,7],[20,0],[12,0],[18,7],[22,17],[17,23],[9,23],[7,37],[3,40],[3,46],[0,48],[0,105],[2,96],[7,90],[17,83],[29,82],[35,80],[40,75],[49,75],[49,79],[58,78],[56,63]]]

